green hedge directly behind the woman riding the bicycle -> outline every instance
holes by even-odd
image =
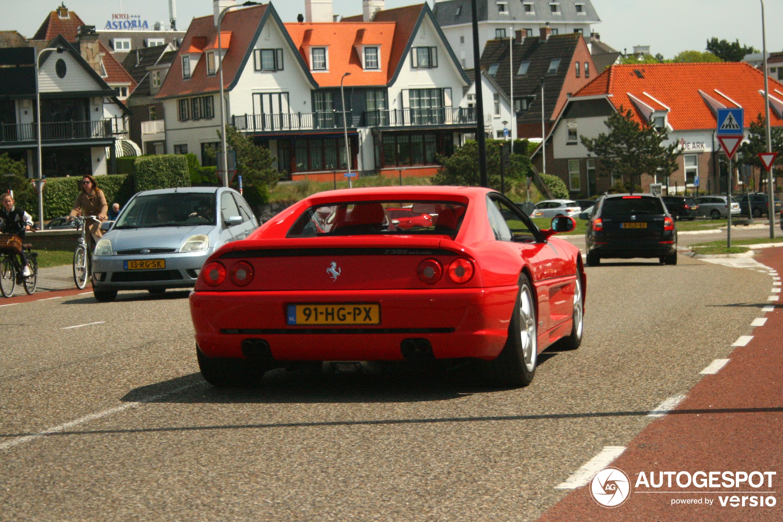
[[[128,202],[135,194],[133,176],[126,174],[96,176],[98,188],[103,190],[106,196],[106,204],[120,203],[120,206]],[[53,219],[67,215],[74,207],[74,201],[79,195],[78,183],[81,177],[71,178],[47,178],[44,186],[44,219]],[[36,215],[38,204],[35,205]]]

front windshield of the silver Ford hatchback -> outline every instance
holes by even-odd
[[[215,193],[165,193],[133,198],[115,229],[215,225]]]

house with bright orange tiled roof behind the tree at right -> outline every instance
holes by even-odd
[[[547,135],[547,174],[560,176],[572,197],[604,193],[616,182],[601,173],[581,137],[607,133],[604,122],[615,112],[631,110],[638,123],[666,130],[668,140],[680,144],[679,169],[668,178],[644,175],[642,189],[661,183],[668,193],[725,193],[727,161],[716,139],[720,108],[745,109],[745,135],[750,123],[764,113],[763,73],[748,63],[662,63],[615,65],[568,99]],[[783,85],[770,78],[770,123],[783,126]],[[541,148],[533,162],[542,167]],[[719,174],[720,172],[720,174]],[[757,170],[753,186],[758,188]],[[742,190],[743,178],[734,169],[732,189]]]

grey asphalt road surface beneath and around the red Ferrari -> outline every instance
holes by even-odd
[[[582,347],[514,390],[280,371],[217,390],[186,292],[2,307],[0,520],[536,520],[767,304],[768,274],[679,263],[587,268]]]

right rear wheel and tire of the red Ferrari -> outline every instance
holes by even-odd
[[[519,275],[519,293],[508,326],[503,351],[486,365],[485,377],[494,386],[527,386],[536,376],[538,359],[538,322],[532,285],[525,274]]]

